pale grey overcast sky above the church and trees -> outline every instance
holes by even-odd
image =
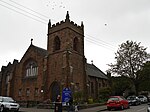
[[[118,46],[132,40],[150,53],[150,0],[0,0],[0,67],[20,61],[33,44],[47,48],[47,24],[65,19],[85,31],[85,57],[102,71]]]

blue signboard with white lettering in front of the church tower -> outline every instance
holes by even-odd
[[[64,88],[62,91],[62,102],[64,103],[69,102],[71,97],[72,97],[71,90],[69,88]]]

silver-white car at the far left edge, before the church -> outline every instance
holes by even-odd
[[[11,97],[0,96],[0,112],[8,111],[19,111],[20,105],[16,103]]]

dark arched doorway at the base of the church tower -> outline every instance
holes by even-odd
[[[50,86],[50,90],[51,90],[50,98],[51,98],[51,101],[54,102],[56,101],[57,96],[60,95],[59,83],[54,81]]]

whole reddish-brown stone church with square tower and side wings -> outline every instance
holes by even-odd
[[[97,99],[99,90],[108,87],[108,78],[84,55],[84,25],[70,20],[48,23],[47,49],[31,44],[21,60],[2,66],[0,95],[17,101],[55,101],[63,88],[82,93],[82,98]]]

